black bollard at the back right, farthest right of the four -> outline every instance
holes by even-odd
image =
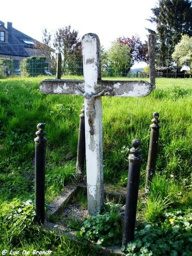
[[[147,162],[147,173],[146,173],[146,181],[145,181],[145,193],[148,193],[149,190],[149,182],[152,180],[152,177],[155,174],[155,166],[157,160],[157,148],[159,141],[159,113],[153,113],[153,122],[151,127],[150,141],[149,141],[149,150],[148,150],[148,162]]]

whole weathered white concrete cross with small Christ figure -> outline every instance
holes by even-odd
[[[47,79],[39,87],[43,93],[84,96],[88,211],[95,215],[104,197],[101,96],[143,97],[152,86],[146,81],[102,81],[100,43],[95,34],[82,37],[82,55],[84,80]]]

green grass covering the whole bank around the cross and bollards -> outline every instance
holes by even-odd
[[[38,85],[45,78],[0,80],[0,212],[15,200],[20,206],[23,201],[34,201],[34,138],[39,122],[46,123],[46,205],[75,177],[83,97],[44,95]],[[164,211],[169,211],[170,206],[180,208],[192,205],[191,81],[157,79],[156,89],[145,98],[102,98],[105,183],[127,186],[128,152],[132,147],[131,141],[139,138],[144,159],[140,189],[144,189],[149,125],[153,113],[160,113],[157,176],[151,183],[151,194],[139,204],[138,215],[143,221],[151,221],[151,218],[161,221]],[[146,212],[148,214],[144,214]],[[1,215],[0,218],[6,216]],[[54,234],[40,232],[33,225],[30,230],[16,228],[17,232],[22,230],[24,235],[15,243],[9,242],[11,235],[6,225],[0,230],[2,250],[5,246],[17,250],[38,250],[41,247],[42,250],[54,250],[52,255],[91,253],[90,249],[81,249],[66,238],[58,239]],[[27,232],[29,238],[25,238]],[[84,250],[87,254],[83,254]],[[94,253],[99,255],[94,251],[91,255]]]

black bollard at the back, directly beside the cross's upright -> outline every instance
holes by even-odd
[[[83,180],[83,170],[85,162],[85,126],[84,126],[84,104],[83,109],[81,109],[81,115],[79,115],[79,137],[77,146],[77,162],[76,162],[76,174],[79,180]]]

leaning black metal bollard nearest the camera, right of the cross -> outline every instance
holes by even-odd
[[[127,244],[134,239],[134,230],[137,213],[137,199],[139,191],[140,181],[140,167],[142,157],[139,154],[140,140],[135,139],[132,141],[133,148],[130,149],[129,155],[129,168],[128,168],[128,186],[127,186],[127,198],[125,205],[125,217],[122,245]]]

